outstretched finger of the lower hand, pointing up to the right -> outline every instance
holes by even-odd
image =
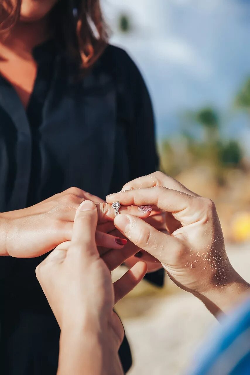
[[[125,273],[114,285],[115,304],[131,292],[147,273],[147,264],[138,262]]]

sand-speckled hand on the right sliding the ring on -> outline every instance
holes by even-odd
[[[130,184],[134,189],[109,195],[107,202],[156,205],[167,213],[170,235],[130,215],[119,215],[114,224],[130,241],[156,257],[175,284],[202,299],[214,314],[249,289],[228,260],[216,207],[210,199],[190,192],[161,172]]]

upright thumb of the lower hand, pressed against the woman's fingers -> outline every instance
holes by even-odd
[[[68,252],[80,250],[82,254],[98,255],[95,240],[97,209],[92,201],[84,201],[76,211],[72,240]]]

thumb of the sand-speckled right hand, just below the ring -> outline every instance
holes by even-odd
[[[119,217],[118,217],[119,216]],[[114,224],[138,248],[147,251],[160,262],[165,257],[166,249],[176,252],[180,249],[180,239],[157,231],[144,220],[131,215],[118,215]]]

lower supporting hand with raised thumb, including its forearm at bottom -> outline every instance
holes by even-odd
[[[140,262],[112,284],[95,242],[96,205],[82,202],[68,248],[58,246],[37,267],[37,279],[61,328],[58,374],[121,374],[118,348],[124,330],[115,303],[144,277]]]

